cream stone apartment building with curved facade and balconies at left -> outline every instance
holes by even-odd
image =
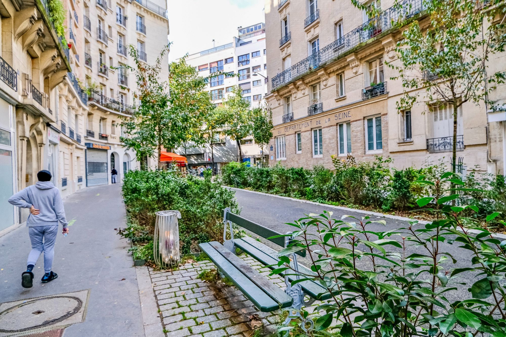
[[[123,44],[146,48],[140,54],[146,62],[154,61],[167,44],[166,35],[147,38],[146,31],[159,32],[160,26],[168,31],[166,5],[163,1],[160,6],[146,0],[121,2],[118,7],[128,9],[122,17],[114,12],[116,3],[102,7],[105,0],[63,0],[62,4],[66,41],[49,19],[46,0],[5,0],[0,7],[0,232],[26,220],[27,210],[13,207],[7,199],[34,184],[40,170],[49,170],[53,183],[66,196],[86,186],[107,184],[111,165],[120,177],[138,165],[118,138],[122,118],[131,115],[135,82],[128,87],[128,74],[119,76],[118,70],[102,76],[99,68],[104,67],[91,64],[90,55],[98,58],[103,51],[109,58],[105,69],[122,62],[133,66],[132,58],[124,57],[116,42],[118,31],[126,32],[128,27]],[[126,13],[131,17],[128,23]],[[109,23],[108,35],[100,35],[99,23],[94,19],[91,24],[90,15]],[[107,40],[97,40],[99,35],[108,36]],[[146,53],[147,48],[152,54]],[[168,63],[164,64],[165,76]],[[100,83],[102,91],[88,95],[82,88],[92,80]],[[121,87],[131,92],[121,97]]]

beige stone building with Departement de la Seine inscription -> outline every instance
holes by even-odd
[[[382,9],[379,17],[369,18],[350,0],[266,1],[271,163],[331,168],[331,155],[348,154],[357,160],[390,156],[396,167],[421,167],[440,159],[450,163],[451,106],[417,102],[399,112],[396,102],[403,88],[390,79],[396,73],[385,65],[399,64],[394,49],[401,32],[392,20],[428,20],[423,2],[404,0],[401,9],[392,7],[394,0],[369,3]],[[503,56],[494,57],[491,63],[504,69]],[[503,100],[504,87],[494,95]],[[502,124],[488,128],[490,109],[472,102],[462,105],[457,156],[465,167],[503,173],[502,145],[495,146],[500,153],[488,150],[488,130],[502,130],[498,144],[504,139]]]

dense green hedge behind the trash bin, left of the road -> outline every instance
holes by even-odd
[[[130,171],[124,175],[122,194],[126,212],[135,223],[131,227],[148,229],[150,233],[154,230],[155,212],[179,210],[184,254],[200,242],[223,239],[223,208],[239,212],[234,192],[212,182],[210,172],[201,180],[184,178],[171,171]]]

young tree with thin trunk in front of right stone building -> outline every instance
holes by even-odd
[[[361,8],[358,0],[352,2]],[[501,4],[502,3],[502,4]],[[456,172],[457,118],[462,104],[490,104],[488,97],[504,83],[505,73],[488,73],[489,57],[504,51],[506,44],[502,0],[423,0],[430,22],[415,20],[402,32],[397,44],[399,62],[387,63],[397,70],[404,94],[397,109],[415,102],[448,104],[452,108],[452,172]],[[394,7],[403,4],[396,0]],[[369,7],[370,16],[379,14]],[[499,20],[497,17],[499,16]],[[423,22],[423,21],[421,21]],[[403,25],[403,18],[399,25]]]

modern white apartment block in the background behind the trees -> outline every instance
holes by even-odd
[[[234,36],[231,43],[191,54],[186,62],[194,66],[201,76],[207,77],[214,72],[231,74],[218,75],[209,80],[207,90],[216,105],[223,102],[233,86],[239,86],[242,89],[242,97],[248,100],[252,107],[259,106],[264,102],[268,82],[265,24],[238,27],[238,36]],[[239,149],[235,141],[220,136],[213,147],[217,170],[222,164],[237,161]],[[252,137],[241,141],[241,150],[244,161],[250,164],[260,162],[261,149]],[[178,153],[185,154],[185,151],[179,150]],[[208,146],[187,148],[186,154],[190,167],[212,164]]]

